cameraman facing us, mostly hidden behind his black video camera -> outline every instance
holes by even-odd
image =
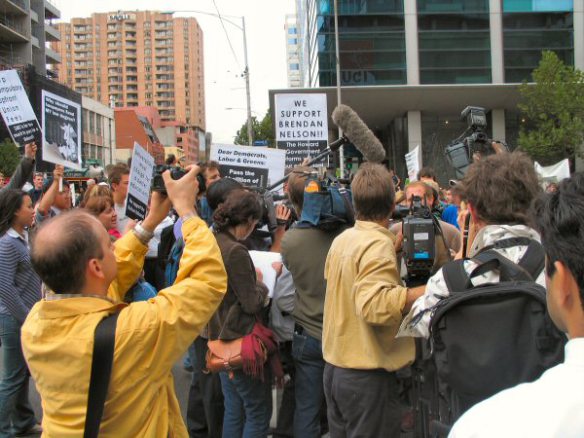
[[[435,197],[434,190],[431,186],[421,181],[408,184],[406,186],[406,202],[408,206],[412,205],[414,197],[421,199],[422,205],[432,210],[432,206],[435,204]],[[403,255],[403,222],[393,224],[390,227],[390,231],[397,236],[395,250],[399,262]],[[434,236],[435,259],[432,269],[428,272],[428,277],[436,273],[446,262],[450,261],[458,253],[461,245],[460,232],[453,225],[441,220],[434,220]],[[406,273],[402,272],[402,277],[406,277],[404,274]]]

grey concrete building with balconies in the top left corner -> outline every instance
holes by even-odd
[[[51,75],[46,65],[58,65],[61,58],[45,43],[59,41],[53,20],[60,16],[51,0],[0,0],[0,67],[33,65]]]

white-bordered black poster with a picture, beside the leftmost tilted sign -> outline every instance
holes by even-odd
[[[81,170],[81,106],[43,90],[43,161]]]

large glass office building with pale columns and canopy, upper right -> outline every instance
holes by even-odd
[[[297,0],[297,15],[303,91],[326,92],[331,112],[334,1]],[[403,154],[417,145],[424,163],[446,166],[444,146],[466,129],[468,105],[485,107],[488,134],[513,146],[517,87],[542,50],[584,69],[584,0],[338,0],[338,23],[343,103],[402,174]]]

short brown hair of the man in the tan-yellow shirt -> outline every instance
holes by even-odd
[[[391,175],[381,164],[363,163],[351,183],[355,218],[377,221],[389,218],[395,202]]]

